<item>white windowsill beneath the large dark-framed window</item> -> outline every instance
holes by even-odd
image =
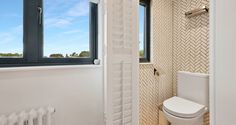
[[[81,68],[101,68],[102,65],[61,65],[61,66],[25,66],[25,67],[2,67],[0,73],[20,71],[42,71],[42,70],[63,70]]]

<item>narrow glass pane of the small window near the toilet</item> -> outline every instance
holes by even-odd
[[[139,6],[139,56],[140,58],[145,57],[145,7]]]

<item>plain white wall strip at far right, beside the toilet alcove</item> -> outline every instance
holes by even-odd
[[[212,0],[214,125],[236,124],[236,1]],[[213,87],[213,86],[212,86]]]

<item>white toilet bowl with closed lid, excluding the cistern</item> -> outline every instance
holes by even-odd
[[[171,125],[203,125],[207,108],[183,98],[172,97],[164,101],[163,112]]]

